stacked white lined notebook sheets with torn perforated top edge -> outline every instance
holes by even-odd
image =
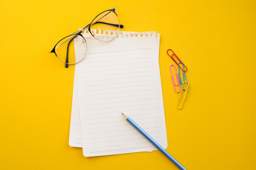
[[[156,149],[125,113],[166,148],[159,35],[122,32],[110,42],[84,36],[88,50],[75,67],[70,146],[82,147],[85,157]],[[75,40],[76,56],[83,55],[81,43]]]

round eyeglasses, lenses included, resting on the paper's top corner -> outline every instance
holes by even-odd
[[[50,53],[53,52],[61,62],[65,63],[65,67],[81,62],[85,58],[87,52],[87,42],[81,34],[82,31],[87,29],[92,37],[97,40],[107,42],[114,40],[114,38],[117,37],[120,28],[124,27],[120,25],[119,18],[117,13],[115,13],[115,10],[116,8],[113,8],[98,14],[89,24],[87,24],[87,26],[85,26],[85,28],[82,28],[81,30],[59,40]],[[111,32],[106,36],[103,34],[103,30],[111,30]],[[75,56],[74,40],[82,40],[80,47],[82,47],[83,55]]]

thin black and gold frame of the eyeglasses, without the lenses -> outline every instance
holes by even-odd
[[[112,8],[112,9],[109,9],[109,10],[106,10],[106,11],[103,11],[102,13],[105,13],[105,12],[107,12],[107,11],[112,11],[112,12],[114,12],[114,14],[117,16],[117,13],[115,12],[115,10],[116,10],[116,8]],[[100,16],[102,13],[99,13],[97,16]],[[108,13],[107,13],[108,14]],[[106,15],[107,15],[106,14]],[[105,15],[105,16],[106,16]],[[95,16],[95,18],[97,18],[97,16]],[[103,16],[104,17],[104,16]],[[95,35],[92,33],[92,30],[91,30],[91,26],[93,25],[93,24],[95,24],[95,23],[104,23],[104,24],[107,24],[107,25],[110,25],[110,26],[116,26],[116,27],[119,27],[119,28],[124,28],[124,26],[123,25],[121,25],[121,24],[114,24],[114,23],[105,23],[105,22],[101,22],[101,21],[99,21],[99,22],[95,22],[95,23],[93,23],[92,24],[92,22],[95,20],[95,18],[93,18],[92,19],[92,21],[89,23],[89,24],[87,24],[87,26],[85,26],[85,28],[87,28],[88,27],[88,31],[89,31],[89,33],[92,35],[92,37],[94,37],[95,38]],[[118,18],[118,16],[117,16],[117,18]],[[118,20],[119,20],[119,18],[118,18]],[[58,55],[56,54],[56,52],[55,52],[55,47],[58,45],[58,43],[61,41],[61,40],[63,40],[63,39],[65,39],[65,38],[68,38],[69,36],[72,36],[73,35],[73,37],[72,38],[70,38],[70,39],[68,39],[69,40],[69,42],[68,42],[68,47],[67,47],[67,55],[66,55],[66,60],[65,60],[65,62],[63,62],[62,60],[60,60],[60,58],[58,57],[58,59],[61,61],[61,62],[63,62],[64,64],[65,64],[65,67],[66,68],[68,68],[68,65],[73,65],[73,64],[78,64],[78,62],[75,62],[75,63],[68,63],[68,51],[69,51],[69,46],[70,46],[70,42],[72,42],[72,40],[74,40],[74,38],[76,38],[76,37],[78,37],[78,36],[81,36],[82,38],[83,38],[83,40],[85,40],[85,38],[82,36],[82,31],[84,31],[85,30],[85,28],[82,28],[81,30],[78,30],[78,31],[76,31],[75,33],[72,33],[72,34],[70,34],[70,35],[68,35],[68,36],[65,36],[64,38],[62,38],[62,39],[60,39],[55,45],[54,45],[54,47],[53,47],[53,50],[51,50],[50,51],[50,53],[54,53],[55,55],[56,55],[56,57],[58,57]],[[117,36],[117,35],[116,35]],[[115,37],[116,37],[115,36]],[[114,38],[115,38],[114,37]],[[113,38],[113,39],[114,39]],[[96,38],[97,39],[97,38]],[[111,40],[113,40],[113,39],[111,39]],[[97,40],[99,40],[99,39],[97,39]],[[101,40],[102,41],[102,40]],[[85,40],[85,43],[86,43],[86,40]],[[86,46],[87,47],[87,46]],[[86,50],[87,51],[87,50]],[[82,60],[83,60],[83,58],[85,57],[85,55],[82,57]],[[81,62],[82,60],[80,60],[79,62]]]

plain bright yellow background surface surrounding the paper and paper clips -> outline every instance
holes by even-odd
[[[178,169],[159,151],[86,158],[68,145],[74,67],[55,42],[117,7],[123,30],[161,33],[168,148],[186,169],[256,169],[256,2],[1,1],[0,169]],[[166,55],[188,67],[181,111]]]

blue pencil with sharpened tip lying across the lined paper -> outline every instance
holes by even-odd
[[[137,129],[144,137],[146,137],[146,139],[149,140],[151,144],[153,144],[157,149],[159,149],[159,151],[161,151],[168,159],[171,160],[171,162],[178,166],[179,169],[186,170],[180,163],[176,161],[176,159],[174,159],[174,157],[171,157],[171,154],[166,152],[166,150],[163,147],[161,147],[155,140],[153,140],[152,137],[150,137],[144,130],[142,130],[142,128],[140,128],[139,125],[134,123],[134,121],[131,118],[129,118],[127,115],[124,115],[124,113],[122,113],[122,115],[127,120],[127,122],[129,122],[135,129]]]

